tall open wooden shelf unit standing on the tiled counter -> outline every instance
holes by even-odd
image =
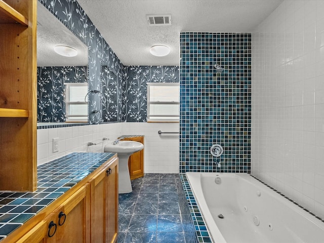
[[[37,186],[36,0],[0,0],[0,190]]]

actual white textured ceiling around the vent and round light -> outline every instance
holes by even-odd
[[[251,32],[282,0],[77,0],[124,65],[179,65],[180,32]],[[147,14],[171,14],[149,26]],[[166,57],[149,48],[169,46]]]

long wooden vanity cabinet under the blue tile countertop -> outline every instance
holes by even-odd
[[[118,158],[114,155],[2,241],[115,243],[117,233]]]

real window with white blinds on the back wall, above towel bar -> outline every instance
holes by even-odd
[[[147,83],[147,121],[179,121],[179,83]]]

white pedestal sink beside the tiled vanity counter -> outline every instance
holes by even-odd
[[[115,144],[116,143],[116,144]],[[105,152],[117,153],[118,164],[118,193],[132,192],[130,173],[128,170],[128,158],[131,154],[144,148],[144,145],[135,141],[115,141],[105,146]]]

